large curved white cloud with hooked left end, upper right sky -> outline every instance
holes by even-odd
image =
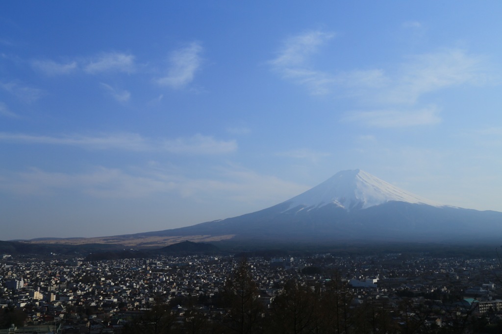
[[[458,48],[408,57],[396,70],[354,69],[330,73],[309,66],[309,58],[334,34],[320,31],[288,39],[269,62],[283,79],[305,86],[312,94],[357,98],[370,103],[413,104],[426,93],[462,84],[486,82],[486,59]]]

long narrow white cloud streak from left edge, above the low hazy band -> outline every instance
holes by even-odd
[[[144,138],[136,133],[54,137],[0,132],[0,141],[24,144],[70,145],[88,149],[167,151],[178,154],[226,154],[237,149],[237,142],[235,140],[217,140],[212,136],[204,136],[201,134],[176,139],[152,139]]]

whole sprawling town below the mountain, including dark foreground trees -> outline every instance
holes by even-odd
[[[3,255],[0,333],[496,333],[502,268],[493,255]],[[248,281],[231,290],[242,274]],[[237,310],[256,311],[254,321],[232,317],[229,291],[253,296]],[[323,310],[333,291],[338,306]]]

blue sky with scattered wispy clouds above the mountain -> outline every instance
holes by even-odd
[[[499,2],[0,3],[0,240],[228,218],[362,169],[502,211]]]

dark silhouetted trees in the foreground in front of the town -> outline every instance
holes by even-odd
[[[183,306],[181,312],[176,309],[178,303]],[[356,304],[352,288],[336,273],[323,284],[287,281],[268,304],[243,260],[217,296],[211,300],[176,297],[167,304],[158,301],[124,328],[124,334],[138,332],[467,334],[500,333],[502,322],[477,317],[473,308],[438,309],[425,302],[414,304],[407,297],[397,306],[369,298]]]

